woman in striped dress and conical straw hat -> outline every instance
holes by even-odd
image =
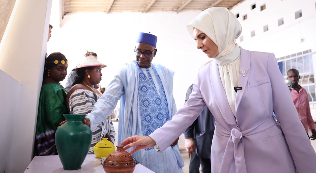
[[[93,88],[93,85],[100,83],[103,67],[106,65],[100,63],[92,55],[85,57],[84,61],[76,66],[74,70],[77,71],[77,76],[66,98],[70,114],[88,114],[92,111],[94,104],[102,95]],[[88,154],[94,154],[93,147],[102,138],[107,138],[114,143],[115,132],[110,116],[91,130],[92,142]]]

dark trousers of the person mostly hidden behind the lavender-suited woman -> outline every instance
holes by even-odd
[[[193,153],[190,165],[189,173],[200,173],[200,164],[202,165],[203,173],[211,173],[211,159],[209,158],[199,158],[196,152]]]

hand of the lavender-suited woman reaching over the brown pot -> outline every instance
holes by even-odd
[[[127,150],[131,147],[136,147],[134,150],[130,152],[130,154],[133,154],[137,150],[140,149],[146,149],[154,146],[156,142],[154,139],[150,138],[149,136],[132,136],[129,138],[126,138],[125,140],[122,141],[121,145],[125,146],[124,150]]]

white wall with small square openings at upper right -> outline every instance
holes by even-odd
[[[256,8],[251,10],[251,5]],[[273,52],[276,58],[312,49],[316,50],[316,0],[247,0],[231,9],[239,13],[238,20],[242,25],[241,36],[244,41],[237,42],[245,49],[261,52]],[[266,9],[260,11],[265,4]],[[302,10],[302,17],[295,19],[295,12]],[[243,15],[247,19],[243,20]],[[284,24],[278,26],[278,19],[283,18]],[[269,30],[264,32],[263,27]],[[251,31],[255,36],[251,37]],[[303,39],[303,41],[301,41]]]

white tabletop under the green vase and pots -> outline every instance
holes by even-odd
[[[81,169],[79,170],[64,170],[58,156],[35,156],[32,162],[27,166],[24,173],[61,173],[61,172],[82,172],[82,173],[105,173],[100,158],[94,154],[88,154]],[[133,173],[155,173],[141,164],[137,164]]]

